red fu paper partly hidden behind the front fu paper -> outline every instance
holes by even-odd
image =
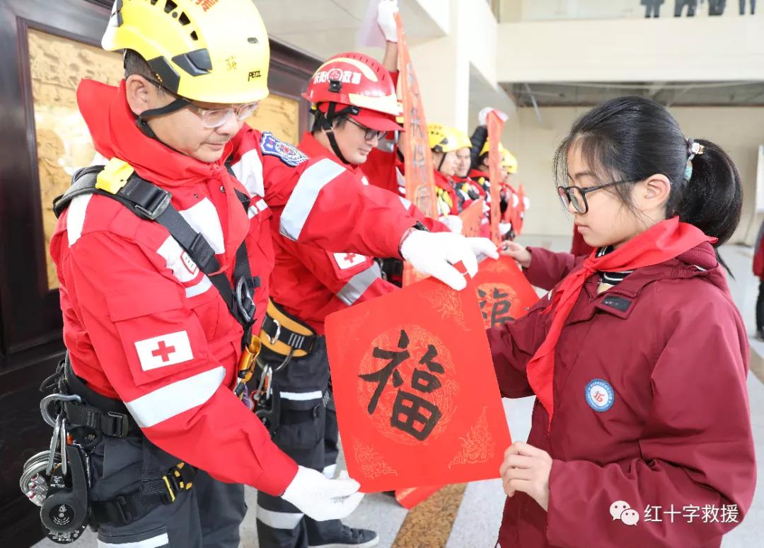
[[[485,329],[525,316],[529,307],[539,300],[511,257],[481,261],[473,284]]]

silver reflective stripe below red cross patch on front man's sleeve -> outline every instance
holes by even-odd
[[[138,426],[147,428],[205,403],[215,394],[223,378],[225,368],[221,365],[125,401],[125,406]]]

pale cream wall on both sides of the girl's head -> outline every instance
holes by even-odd
[[[759,144],[764,144],[764,108],[678,107],[670,110],[685,135],[714,141],[732,157],[743,180],[744,199],[743,219],[732,242],[745,238],[752,243],[759,229],[756,222],[751,222],[755,207],[756,154]],[[523,232],[571,235],[570,216],[562,209],[554,189],[552,157],[575,118],[588,108],[555,107],[541,111],[544,125],[539,124],[533,109],[517,109],[516,138],[508,138],[505,132],[504,144],[516,154],[519,162],[515,180],[523,183],[531,199]]]

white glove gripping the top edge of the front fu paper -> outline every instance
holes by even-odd
[[[478,273],[477,255],[499,258],[496,246],[488,238],[465,238],[453,232],[425,232],[414,230],[400,246],[400,255],[422,274],[436,277],[444,284],[460,291],[467,280],[452,265],[461,261],[467,273]]]

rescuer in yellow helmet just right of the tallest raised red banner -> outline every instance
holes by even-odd
[[[452,177],[455,177],[458,168],[456,153],[465,147],[466,135],[456,128],[441,124],[428,124],[427,132],[429,147],[432,150],[439,221],[448,225],[453,232],[461,232],[459,200],[454,190]]]

